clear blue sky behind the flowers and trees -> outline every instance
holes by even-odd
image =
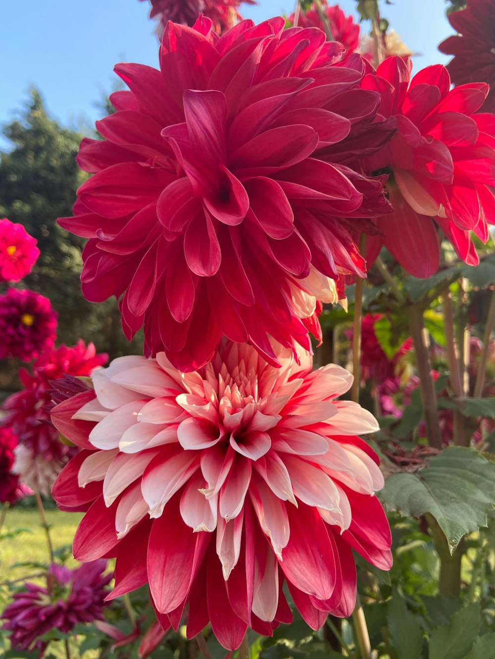
[[[415,58],[416,69],[448,61],[436,50],[452,33],[443,0],[381,4],[404,42],[422,53]],[[341,0],[340,5],[354,13],[356,0]],[[259,22],[293,8],[294,0],[259,0],[257,6],[244,5],[241,11]],[[0,0],[0,123],[16,117],[34,85],[49,112],[64,125],[90,127],[100,116],[94,104],[112,89],[115,63],[157,65],[158,42],[148,12],[149,2],[138,0]],[[368,23],[363,29],[369,29]],[[0,138],[0,148],[5,144]]]

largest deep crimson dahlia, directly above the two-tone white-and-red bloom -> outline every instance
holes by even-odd
[[[334,66],[342,51],[283,18],[221,38],[205,18],[168,23],[161,72],[117,66],[131,91],[98,122],[106,140],[82,141],[95,174],[59,223],[90,239],[86,298],[123,295],[125,332],[144,323],[147,354],[193,370],[224,334],[277,364],[267,333],[310,350],[315,293],[364,276],[349,229],[388,205],[383,179],[343,162],[380,148],[395,121],[375,121],[378,94],[358,88],[357,55],[358,70]]]

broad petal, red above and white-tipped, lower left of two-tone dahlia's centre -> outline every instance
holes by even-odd
[[[149,505],[150,517],[160,517],[167,501],[183,486],[199,466],[199,457],[163,449],[145,469],[141,490]]]

